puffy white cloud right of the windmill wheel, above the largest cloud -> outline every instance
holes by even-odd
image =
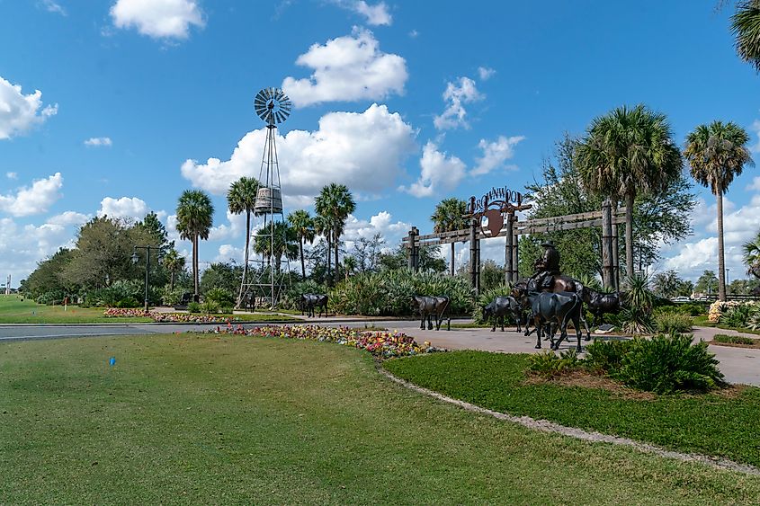
[[[314,44],[296,63],[311,68],[308,78],[285,77],[282,90],[296,106],[321,102],[380,100],[404,93],[407,62],[380,51],[371,31],[353,28],[351,35]]]

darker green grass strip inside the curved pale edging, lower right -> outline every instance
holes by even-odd
[[[416,385],[498,412],[760,466],[760,388],[747,387],[734,398],[631,399],[602,388],[525,384],[527,357],[456,351],[389,360],[385,368]]]

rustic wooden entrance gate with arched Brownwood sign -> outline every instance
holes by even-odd
[[[602,278],[607,289],[620,289],[618,279],[617,225],[625,222],[625,209],[612,210],[609,200],[602,209],[559,217],[541,217],[520,221],[517,211],[531,209],[523,203],[519,191],[493,188],[480,199],[469,198],[469,228],[420,235],[416,226],[409,230],[403,243],[408,249],[409,269],[419,269],[419,248],[422,245],[469,242],[469,278],[473,290],[480,293],[480,240],[505,237],[505,282],[518,280],[518,239],[520,235],[546,234],[592,226],[602,227]],[[583,247],[582,244],[578,245]]]

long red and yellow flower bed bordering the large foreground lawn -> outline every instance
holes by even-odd
[[[264,325],[250,329],[228,326],[217,327],[210,333],[250,335],[255,337],[279,337],[281,339],[308,339],[310,341],[335,342],[371,352],[375,357],[389,359],[420,353],[441,351],[430,342],[418,344],[405,333],[377,332],[349,327],[320,327],[317,325]]]

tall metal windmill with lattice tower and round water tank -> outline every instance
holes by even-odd
[[[277,124],[291,114],[291,99],[279,88],[264,88],[256,93],[254,108],[266,122],[266,142],[259,171],[259,190],[254,205],[255,214],[263,220],[261,228],[252,234],[251,244],[260,253],[252,261],[255,281],[247,287],[259,300],[274,308],[282,291],[290,284],[291,264],[287,253],[287,231],[282,214],[282,186],[280,165],[275,142]]]

